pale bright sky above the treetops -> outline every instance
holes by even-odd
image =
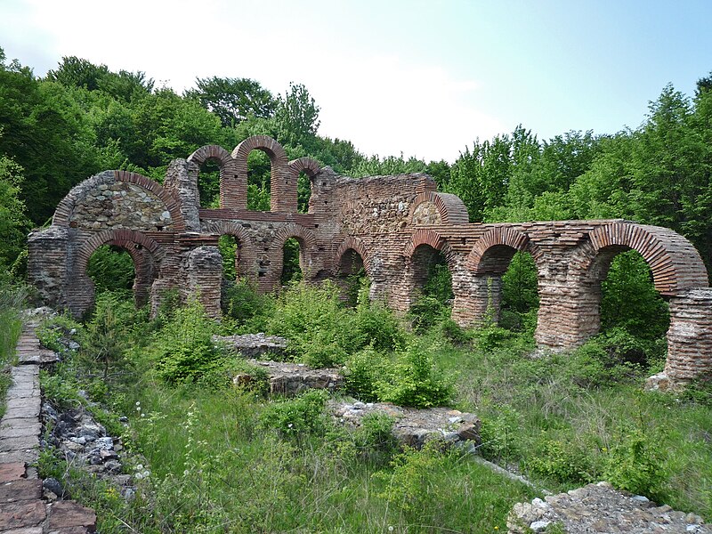
[[[301,83],[321,135],[452,162],[518,124],[635,128],[668,82],[692,95],[712,0],[0,0],[0,47],[39,76],[76,55],[178,93],[196,77]]]

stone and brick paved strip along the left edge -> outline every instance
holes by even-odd
[[[0,420],[0,532],[4,534],[84,534],[96,530],[93,510],[73,501],[42,500],[34,467],[39,454],[41,364],[56,361],[28,323],[17,345],[20,365],[12,368],[5,415]]]

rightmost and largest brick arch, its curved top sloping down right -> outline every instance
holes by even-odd
[[[610,264],[619,252],[633,249],[650,266],[653,285],[661,295],[679,295],[688,289],[709,285],[700,253],[676,231],[643,224],[613,223],[599,226],[588,237],[593,254],[582,263],[586,271],[598,263]],[[604,271],[607,269],[602,273]]]

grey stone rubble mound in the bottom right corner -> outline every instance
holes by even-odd
[[[712,534],[699,515],[657,506],[647,498],[614,490],[608,482],[517,503],[507,518],[509,534],[547,532],[557,525],[567,534]]]

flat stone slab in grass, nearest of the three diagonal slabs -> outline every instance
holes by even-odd
[[[338,421],[352,426],[359,426],[368,414],[387,414],[394,419],[393,435],[396,439],[417,449],[433,439],[473,451],[480,443],[480,419],[457,409],[401,408],[390,402],[360,401],[329,401],[328,408]]]

